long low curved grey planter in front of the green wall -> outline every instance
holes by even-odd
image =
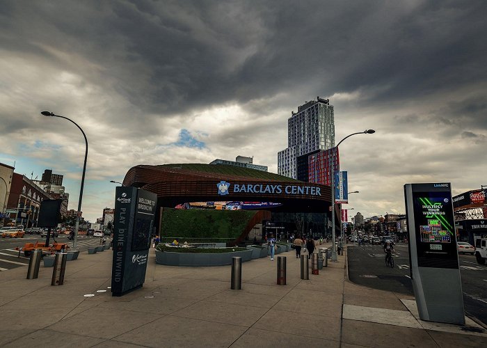
[[[252,250],[231,251],[230,253],[171,253],[156,251],[156,263],[167,266],[225,266],[232,264],[232,257],[240,256],[242,262],[252,259]]]

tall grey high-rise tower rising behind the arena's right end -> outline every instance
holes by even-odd
[[[293,111],[287,120],[287,149],[278,152],[278,174],[305,182],[325,183],[328,175],[324,182],[315,181],[310,175],[309,157],[333,148],[334,145],[333,105],[320,97],[306,102],[298,107],[297,113]]]

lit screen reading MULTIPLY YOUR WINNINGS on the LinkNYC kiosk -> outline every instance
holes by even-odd
[[[458,269],[452,196],[449,191],[413,191],[419,267]]]

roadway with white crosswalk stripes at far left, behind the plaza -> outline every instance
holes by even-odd
[[[77,249],[79,251],[88,250],[88,246],[99,245],[99,237],[79,235],[77,240]],[[0,271],[8,271],[17,267],[29,266],[29,258],[24,256],[24,252],[16,251],[16,247],[23,247],[26,243],[45,242],[45,237],[40,235],[25,235],[24,238],[0,238]],[[67,235],[59,235],[56,237],[59,243],[66,243],[70,248],[73,246],[73,241],[67,239]],[[49,244],[52,244],[53,239],[49,239]],[[107,238],[107,243],[110,239]],[[26,269],[27,271],[27,269]]]

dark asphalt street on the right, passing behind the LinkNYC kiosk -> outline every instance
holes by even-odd
[[[384,251],[380,245],[349,248],[349,279],[374,289],[414,295],[408,244],[397,244],[392,255],[393,269],[385,266]],[[477,264],[473,255],[458,255],[458,260],[465,312],[487,325],[487,265]]]

